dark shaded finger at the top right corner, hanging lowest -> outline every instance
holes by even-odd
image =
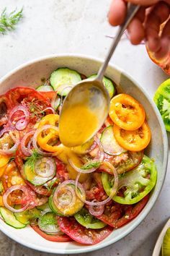
[[[156,52],[161,48],[161,40],[159,38],[160,25],[169,17],[169,7],[164,2],[156,4],[146,18],[146,40],[148,48]]]

